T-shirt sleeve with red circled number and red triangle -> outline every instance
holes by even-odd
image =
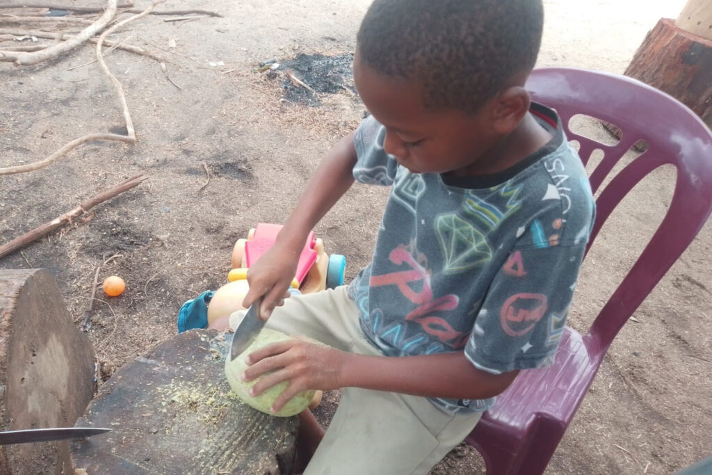
[[[553,363],[584,251],[585,243],[515,246],[475,319],[468,360],[493,374]]]

